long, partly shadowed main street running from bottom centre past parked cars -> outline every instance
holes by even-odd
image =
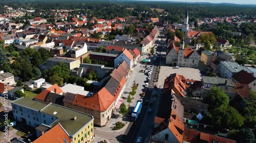
[[[159,101],[160,101],[160,93],[161,93],[161,89],[154,89],[154,86],[157,85],[157,82],[155,81],[155,78],[157,77],[157,69],[158,69],[158,65],[161,65],[162,61],[164,60],[162,58],[162,50],[165,49],[162,46],[163,44],[158,44],[158,46],[156,47],[156,51],[158,52],[158,56],[157,56],[157,60],[153,61],[152,57],[150,57],[150,59],[152,59],[151,63],[148,64],[148,66],[151,66],[154,62],[154,69],[152,72],[152,76],[150,81],[148,82],[148,89],[146,91],[146,95],[143,99],[143,105],[142,105],[142,109],[141,112],[139,114],[139,117],[137,119],[136,122],[131,123],[126,131],[124,132],[124,135],[121,139],[121,142],[127,142],[127,143],[133,143],[136,142],[138,137],[142,137],[142,141],[143,142],[149,142],[150,141],[150,136],[151,136],[151,132],[154,128],[154,120],[155,117],[157,116],[157,112],[158,112],[158,106],[159,106]],[[154,54],[153,54],[154,56]],[[145,105],[145,101],[149,100],[153,103],[152,106],[150,105]],[[149,114],[148,108],[152,109],[152,113]]]

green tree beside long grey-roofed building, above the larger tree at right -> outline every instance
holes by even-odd
[[[210,94],[207,97],[207,101],[209,102],[211,108],[217,108],[220,106],[228,106],[229,99],[228,96],[223,92],[222,89],[217,87],[212,87]]]

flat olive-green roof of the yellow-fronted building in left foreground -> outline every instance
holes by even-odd
[[[41,109],[41,112],[57,118],[57,120],[49,126],[53,127],[60,123],[70,135],[74,135],[82,127],[93,120],[93,116],[91,115],[52,103],[48,104],[46,108]],[[54,115],[53,112],[57,113]],[[76,117],[76,120],[74,120],[74,117]]]

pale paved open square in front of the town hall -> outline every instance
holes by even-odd
[[[179,75],[183,75],[188,79],[194,79],[199,81],[202,79],[202,75],[199,69],[185,68],[185,67],[179,67],[179,69],[173,69],[173,67],[161,66],[158,85],[163,87],[165,78],[173,73],[178,73]]]

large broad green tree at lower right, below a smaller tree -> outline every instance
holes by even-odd
[[[212,123],[214,123],[214,127],[218,130],[237,129],[244,124],[244,118],[231,106],[220,106],[210,113]]]

